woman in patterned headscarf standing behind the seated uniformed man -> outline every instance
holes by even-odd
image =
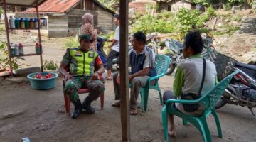
[[[90,34],[92,36],[92,43],[90,45],[90,48],[92,48],[92,50],[97,50],[97,48],[96,48],[97,33],[96,33],[95,29],[93,28],[93,15],[92,14],[85,13],[85,15],[82,16],[81,33],[82,34]]]

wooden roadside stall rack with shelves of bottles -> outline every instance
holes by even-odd
[[[42,58],[42,44],[41,44],[41,34],[40,34],[40,18],[38,13],[38,6],[42,4],[46,0],[26,0],[26,1],[16,1],[16,0],[0,0],[0,6],[4,8],[4,21],[6,27],[6,40],[7,40],[7,48],[9,54],[9,66],[11,75],[13,75],[13,65],[11,63],[12,58],[15,57],[23,57],[23,56],[31,56],[38,55],[40,56],[40,67],[41,72],[43,72],[43,58]],[[36,8],[37,18],[28,19],[28,18],[11,18],[7,17],[7,6],[29,6]],[[38,42],[31,43],[34,45],[35,52],[34,53],[24,53],[23,45],[11,45],[10,34],[9,32],[12,30],[21,30],[21,31],[38,31]],[[21,41],[22,42],[22,41]],[[18,47],[17,47],[18,46]]]

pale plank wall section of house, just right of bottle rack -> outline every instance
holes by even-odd
[[[48,16],[48,37],[68,36],[68,16]]]

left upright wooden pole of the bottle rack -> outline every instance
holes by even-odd
[[[7,18],[7,11],[6,11],[6,0],[4,0],[3,2],[4,2],[4,23],[6,26],[7,49],[8,49],[8,55],[9,55],[9,66],[10,66],[11,76],[12,76],[13,72],[12,72],[12,65],[11,65],[11,45],[10,45],[9,26],[8,26],[8,18]]]

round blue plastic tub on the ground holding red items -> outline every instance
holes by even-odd
[[[46,79],[33,78],[33,76],[37,75],[38,73],[41,75],[48,75],[50,73],[53,77]],[[27,77],[33,89],[53,89],[55,87],[55,81],[58,77],[58,74],[54,72],[35,72],[29,74]]]

